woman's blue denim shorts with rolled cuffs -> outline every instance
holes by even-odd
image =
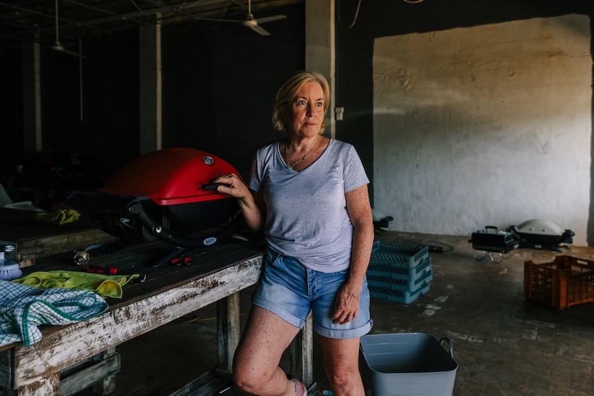
[[[359,310],[354,320],[332,323],[334,299],[345,283],[349,270],[323,273],[307,269],[298,260],[268,248],[264,271],[252,304],[278,315],[289,324],[303,328],[309,311],[316,333],[336,339],[356,338],[369,333],[373,320],[369,314],[369,289],[363,282]]]

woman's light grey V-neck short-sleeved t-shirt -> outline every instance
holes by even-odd
[[[285,164],[278,143],[258,149],[249,188],[264,196],[269,247],[309,269],[335,272],[351,261],[353,226],[345,194],[367,183],[355,147],[333,139],[302,171]]]

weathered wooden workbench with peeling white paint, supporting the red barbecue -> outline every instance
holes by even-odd
[[[107,394],[114,389],[114,374],[119,369],[117,345],[213,302],[218,306],[218,364],[212,373],[174,395],[213,395],[228,386],[225,373],[231,371],[240,335],[238,292],[258,282],[263,244],[218,244],[194,256],[191,266],[147,267],[170,249],[167,244],[154,242],[92,258],[92,264],[117,267],[121,274],[146,273],[147,280],[126,284],[123,298],[108,299],[110,308],[102,315],[67,326],[46,326],[42,339],[27,348],[20,343],[0,347],[4,395],[66,396],[92,384],[96,392]],[[71,258],[45,258],[30,269],[76,270]],[[311,320],[300,334],[291,346],[291,373],[311,384]]]

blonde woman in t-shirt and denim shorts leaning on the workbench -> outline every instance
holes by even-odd
[[[303,396],[278,366],[309,311],[336,396],[365,395],[359,337],[371,329],[365,271],[373,244],[369,180],[354,147],[322,136],[329,88],[299,72],[276,95],[273,123],[287,137],[258,150],[249,187],[236,175],[214,183],[238,198],[267,241],[262,280],[234,356],[236,386],[260,396]]]

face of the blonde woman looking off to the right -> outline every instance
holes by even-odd
[[[287,106],[285,118],[289,134],[303,137],[319,134],[324,121],[324,91],[320,83],[305,83]]]

